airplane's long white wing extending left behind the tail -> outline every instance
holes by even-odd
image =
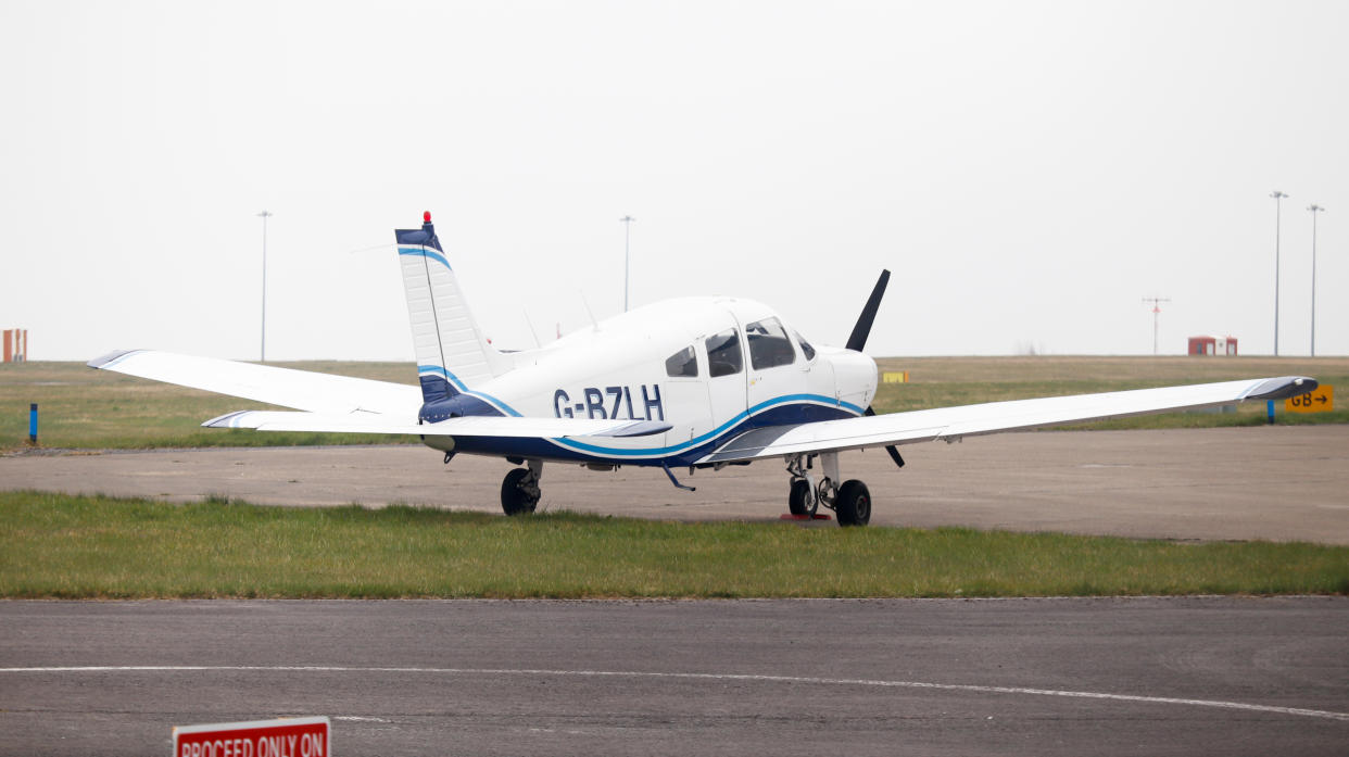
[[[113,352],[88,364],[90,368],[314,413],[387,413],[411,417],[415,422],[422,405],[421,389],[411,385],[152,349]]]

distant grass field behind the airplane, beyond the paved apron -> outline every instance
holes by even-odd
[[[1311,375],[1349,386],[1349,358],[884,358],[882,371],[907,370],[912,383],[881,385],[880,413],[1116,391],[1238,378]],[[286,367],[415,383],[410,363],[285,363]],[[40,409],[39,443],[53,448],[256,447],[409,441],[374,434],[258,433],[202,429],[208,418],[264,405],[94,371],[84,363],[0,364],[0,449],[23,447],[28,403]],[[1349,399],[1341,401],[1349,402]],[[1182,413],[1098,424],[1094,428],[1175,428],[1264,422],[1264,403],[1236,413]],[[1349,410],[1283,414],[1279,422],[1349,422]]]

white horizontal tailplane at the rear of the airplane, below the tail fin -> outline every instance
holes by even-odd
[[[526,418],[509,416],[464,416],[434,424],[418,424],[417,414],[382,416],[376,413],[287,413],[278,410],[240,410],[212,418],[208,428],[246,428],[258,430],[309,430],[333,433],[407,433],[417,436],[498,436],[563,439],[575,436],[649,436],[673,428],[658,421]]]

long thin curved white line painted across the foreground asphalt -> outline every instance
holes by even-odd
[[[1060,691],[1052,688],[1024,688],[1024,687],[1008,687],[1008,685],[892,681],[892,680],[873,680],[873,679],[819,679],[807,676],[764,676],[764,675],[747,675],[747,673],[660,673],[660,672],[638,672],[638,671],[545,671],[545,669],[494,669],[494,668],[379,668],[379,667],[341,667],[341,665],[81,665],[81,667],[50,667],[50,668],[0,668],[0,673],[154,673],[154,672],[432,673],[432,675],[456,675],[456,676],[629,677],[629,679],[799,683],[799,684],[815,684],[815,685],[869,685],[881,688],[925,688],[934,691],[970,691],[978,694],[1024,694],[1032,696],[1064,696],[1070,699],[1103,699],[1110,702],[1140,702],[1148,704],[1186,704],[1191,707],[1214,707],[1219,710],[1242,710],[1248,712],[1271,712],[1278,715],[1298,715],[1303,718],[1323,718],[1329,721],[1349,721],[1349,712],[1304,710],[1302,707],[1276,707],[1272,704],[1249,704],[1245,702],[1221,702],[1213,699],[1180,699],[1174,696],[1141,696],[1136,694]]]

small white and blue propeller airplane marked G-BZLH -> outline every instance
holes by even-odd
[[[813,345],[766,305],[689,297],[646,305],[521,352],[494,348],[473,320],[430,213],[395,231],[421,387],[274,366],[132,349],[89,362],[116,371],[294,412],[240,410],[209,428],[415,434],[445,453],[505,457],[502,509],[530,513],[544,461],[720,470],[778,459],[796,515],[831,509],[866,525],[871,497],[844,480],[839,453],[966,436],[1278,399],[1311,391],[1306,376],[1017,399],[877,416],[877,368],[862,354],[889,271],[846,347]],[[819,459],[819,470],[815,460]]]

